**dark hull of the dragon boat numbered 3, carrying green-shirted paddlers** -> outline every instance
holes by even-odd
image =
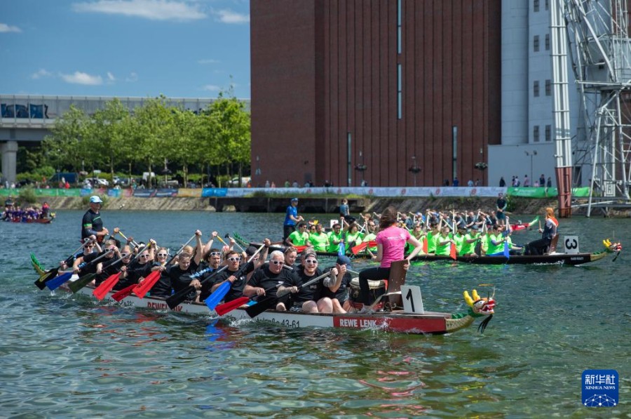
[[[260,246],[260,244],[252,243],[252,246]],[[271,247],[272,250],[284,251],[285,248],[277,246]],[[331,252],[315,252],[318,256],[337,258],[337,253]],[[549,255],[512,255],[510,258],[506,256],[457,256],[456,262],[473,263],[475,265],[583,265],[584,263],[595,262],[604,258],[608,253],[551,253]],[[355,258],[368,258],[369,255],[358,253]],[[417,255],[412,258],[413,262],[435,262],[440,260],[454,261],[450,256],[442,255]]]

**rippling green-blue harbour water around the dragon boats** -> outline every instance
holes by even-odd
[[[462,291],[495,288],[496,314],[484,334],[285,329],[39,291],[29,251],[52,267],[78,246],[81,215],[57,211],[52,225],[0,223],[2,417],[630,417],[624,251],[615,262],[581,267],[412,266],[407,281],[421,286],[426,310],[465,311]],[[197,228],[204,239],[217,230],[274,240],[283,221],[190,212],[103,218],[110,230],[172,248]],[[631,220],[574,218],[560,231],[578,235],[581,251],[601,250],[605,237],[631,243]],[[536,236],[521,232],[514,241]],[[618,406],[581,405],[588,368],[618,371]]]

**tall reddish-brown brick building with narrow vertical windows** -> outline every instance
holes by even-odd
[[[251,1],[250,16],[254,185],[484,180],[501,1]]]

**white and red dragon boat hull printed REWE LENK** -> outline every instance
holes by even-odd
[[[93,287],[86,286],[81,288],[77,294],[93,298],[93,290]],[[113,298],[111,298],[111,295],[113,294],[114,292],[110,291],[103,301],[107,302],[107,304],[115,303],[126,307],[138,307],[148,310],[170,310],[164,298],[146,296],[141,299],[136,295],[129,295],[121,302],[116,302]],[[217,315],[214,311],[208,310],[208,307],[205,304],[196,302],[183,302],[172,311],[187,314]],[[463,319],[454,319],[452,314],[449,313],[425,312],[424,314],[407,314],[402,311],[376,312],[372,314],[311,314],[304,312],[277,312],[275,310],[267,310],[255,317],[255,319],[250,319],[250,316],[247,312],[245,312],[245,310],[236,309],[232,310],[228,314],[225,314],[223,317],[237,320],[247,319],[251,321],[267,321],[289,328],[321,327],[347,328],[355,330],[374,329],[394,333],[432,335],[441,335],[457,331],[473,323],[473,319],[471,319],[471,321],[463,322]]]

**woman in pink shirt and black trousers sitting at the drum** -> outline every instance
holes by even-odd
[[[414,246],[414,250],[406,258],[406,269],[409,267],[409,260],[414,258],[423,247],[421,242],[409,234],[407,229],[397,227],[397,210],[392,206],[388,206],[384,213],[381,214],[381,218],[379,218],[379,233],[377,233],[375,240],[377,254],[372,258],[380,262],[379,267],[370,267],[362,270],[359,275],[359,300],[365,305],[362,312],[365,312],[370,304],[368,280],[388,279],[390,277],[390,265],[395,260],[403,259],[406,243]]]

